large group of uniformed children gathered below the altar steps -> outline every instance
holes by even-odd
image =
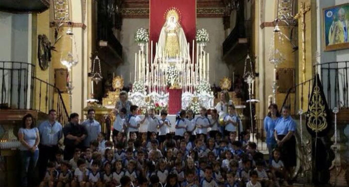
[[[112,141],[100,133],[86,150],[76,149],[70,161],[63,160],[62,150],[48,163],[41,186],[140,186],[140,187],[239,187],[279,186],[284,178],[280,151],[266,163],[249,142],[249,133],[240,133],[234,106],[228,107],[223,123],[217,111],[206,109],[195,117],[181,110],[170,133],[167,112],[160,118],[154,109],[141,119],[137,106],[117,111]],[[148,132],[139,133],[148,120]]]

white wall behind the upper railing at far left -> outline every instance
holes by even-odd
[[[29,14],[0,12],[0,61],[28,63],[28,20]],[[5,82],[5,91],[0,93],[0,98],[8,103],[10,107],[18,107],[18,92],[16,90],[18,87],[24,88],[23,86],[28,83],[28,66],[25,64],[0,63],[0,68],[17,69],[15,71],[0,71],[0,80],[3,82],[4,77]],[[13,78],[11,79],[11,77]],[[3,90],[1,83],[0,87],[0,90]],[[12,93],[10,90],[12,90]],[[24,90],[21,89],[19,94],[21,108],[25,107],[24,95]]]

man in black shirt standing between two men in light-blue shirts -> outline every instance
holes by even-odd
[[[69,123],[63,128],[64,135],[64,160],[70,160],[74,155],[75,148],[84,148],[84,139],[87,136],[86,129],[79,124],[79,114],[72,113]]]

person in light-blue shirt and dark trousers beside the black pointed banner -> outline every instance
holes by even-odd
[[[293,167],[296,166],[296,122],[289,115],[289,107],[282,108],[282,118],[275,126],[274,137],[278,148],[281,150],[281,160],[285,165],[287,174],[293,173]],[[288,175],[286,175],[288,176]]]

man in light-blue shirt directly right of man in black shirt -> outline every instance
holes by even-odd
[[[86,129],[87,136],[84,140],[84,147],[89,148],[90,142],[97,140],[98,135],[101,133],[101,124],[94,119],[95,111],[93,109],[88,109],[87,117],[81,125]]]

